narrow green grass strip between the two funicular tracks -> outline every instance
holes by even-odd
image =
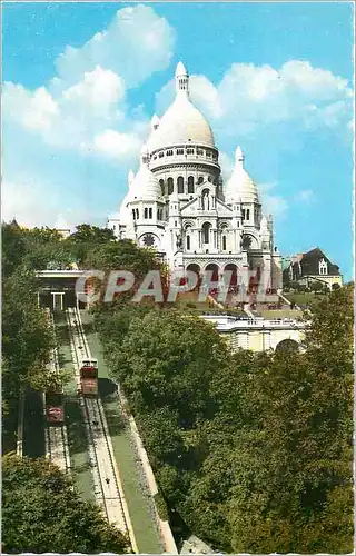
[[[63,386],[65,415],[69,444],[69,456],[73,481],[82,498],[95,500],[93,480],[88,455],[87,434],[83,415],[77,397],[77,384],[72,365],[66,314],[55,315],[56,332],[60,342],[59,365],[68,371],[70,380]]]

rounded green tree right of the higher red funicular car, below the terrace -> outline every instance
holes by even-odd
[[[212,415],[211,376],[228,360],[228,349],[214,327],[174,310],[151,310],[131,320],[112,374],[136,410],[169,405],[181,427]]]

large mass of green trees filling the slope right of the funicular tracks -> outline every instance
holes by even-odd
[[[194,316],[98,309],[162,496],[212,547],[350,552],[352,291],[315,305],[303,351],[231,356]]]

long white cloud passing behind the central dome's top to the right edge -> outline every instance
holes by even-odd
[[[281,122],[303,129],[347,128],[353,92],[347,80],[309,62],[290,60],[279,69],[233,63],[221,81],[190,80],[192,101],[211,119],[218,139],[247,136]],[[158,111],[174,97],[169,82],[157,95]]]

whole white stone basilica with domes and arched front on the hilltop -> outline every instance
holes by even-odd
[[[222,181],[211,128],[189,98],[189,76],[179,62],[176,98],[140,152],[139,169],[128,176],[119,212],[108,220],[118,238],[154,248],[170,269],[230,270],[268,276],[281,287],[280,254],[271,216],[263,214],[258,188],[237,147],[235,168]]]

